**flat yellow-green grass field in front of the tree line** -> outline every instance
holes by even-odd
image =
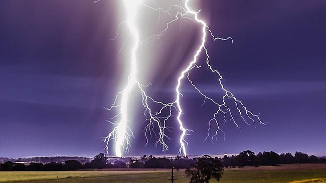
[[[170,170],[130,171],[0,171],[0,182],[62,182],[62,183],[107,183],[107,182],[169,182]],[[188,182],[184,170],[175,171],[175,182]],[[217,181],[210,181],[217,182]],[[220,182],[326,182],[326,164],[297,164],[226,168]]]

